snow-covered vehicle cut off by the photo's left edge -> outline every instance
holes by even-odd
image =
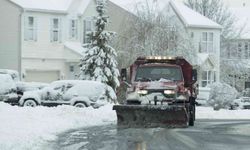
[[[0,74],[0,101],[18,102],[16,84],[9,74]]]

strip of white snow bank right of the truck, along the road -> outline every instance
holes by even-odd
[[[214,111],[212,107],[196,107],[197,119],[250,119],[250,110],[227,110]]]

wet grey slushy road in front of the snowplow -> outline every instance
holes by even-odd
[[[55,150],[250,150],[250,120],[197,120],[189,128],[72,130],[51,144]]]

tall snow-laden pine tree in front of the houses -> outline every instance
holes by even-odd
[[[120,85],[117,54],[115,49],[108,45],[115,33],[104,30],[108,23],[108,16],[105,15],[106,6],[106,0],[97,0],[98,16],[94,19],[95,31],[89,34],[91,43],[87,45],[88,50],[80,62],[80,78],[100,81],[116,90]]]

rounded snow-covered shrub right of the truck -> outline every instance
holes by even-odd
[[[216,82],[210,88],[208,104],[215,110],[228,108],[238,96],[237,90],[226,83]]]

